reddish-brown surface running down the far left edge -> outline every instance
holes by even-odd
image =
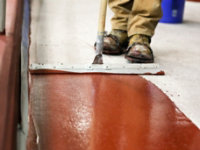
[[[0,35],[0,150],[16,149],[22,10],[22,0],[6,1],[6,29]]]

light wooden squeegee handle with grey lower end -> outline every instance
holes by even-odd
[[[96,53],[102,54],[103,51],[103,40],[105,33],[106,24],[106,11],[107,11],[107,0],[101,0],[100,12],[99,12],[99,22],[98,22],[98,33],[96,41]]]

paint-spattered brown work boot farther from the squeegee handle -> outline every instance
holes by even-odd
[[[136,34],[129,40],[129,47],[125,58],[131,63],[153,63],[154,56],[150,47],[151,38]]]

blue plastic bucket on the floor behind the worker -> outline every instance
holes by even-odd
[[[182,23],[185,0],[162,0],[163,23]]]

